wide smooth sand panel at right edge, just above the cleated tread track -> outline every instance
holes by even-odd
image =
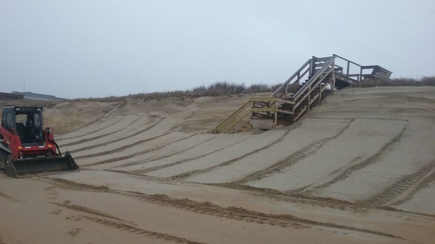
[[[364,170],[345,170],[336,176],[338,180],[325,185],[323,190],[315,190],[315,195],[328,195],[376,206],[388,202],[410,186],[402,185],[400,191],[396,192],[398,189],[394,187],[395,183],[413,174],[416,174],[411,177],[413,180],[423,177],[424,173],[418,172],[435,158],[435,138],[428,136],[430,131],[435,133],[433,128],[424,128],[420,123],[410,122],[403,136],[397,138],[388,148],[381,148],[384,149],[380,150],[382,154],[363,162]],[[420,144],[422,138],[427,143]],[[358,191],[349,192],[350,188],[355,187]]]

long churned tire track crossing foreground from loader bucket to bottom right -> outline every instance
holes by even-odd
[[[54,187],[61,188],[61,189],[73,190],[73,191],[112,193],[112,194],[136,198],[141,201],[159,204],[166,207],[170,206],[177,209],[183,209],[195,213],[213,215],[213,216],[236,219],[236,220],[247,221],[247,222],[279,225],[282,227],[293,227],[293,228],[304,228],[304,227],[310,227],[309,225],[320,225],[325,227],[340,228],[340,229],[353,230],[353,231],[370,233],[370,234],[375,234],[380,236],[403,239],[400,236],[377,231],[377,230],[358,228],[354,226],[336,224],[332,222],[320,222],[320,221],[300,218],[291,214],[264,213],[264,212],[253,211],[237,206],[223,207],[208,201],[198,202],[188,198],[181,198],[181,199],[171,198],[165,194],[147,195],[137,191],[119,191],[119,190],[109,189],[107,186],[93,186],[89,184],[82,184],[82,183],[59,179],[59,178],[56,179],[51,177],[44,177],[42,179],[40,178],[40,180],[43,181],[47,180],[48,182],[52,183]],[[131,229],[131,227],[133,226],[129,225],[128,229]],[[136,230],[134,231],[136,232]]]

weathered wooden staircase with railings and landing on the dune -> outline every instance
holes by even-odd
[[[345,63],[340,66],[339,60]],[[351,74],[350,68],[359,73]],[[371,73],[367,73],[371,71]],[[325,90],[342,89],[363,79],[389,79],[391,72],[380,66],[361,66],[338,55],[308,59],[270,97],[254,97],[219,124],[215,133],[225,133],[248,115],[254,128],[272,129],[298,120],[324,97]]]

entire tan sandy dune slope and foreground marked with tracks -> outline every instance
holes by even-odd
[[[433,243],[435,88],[348,88],[289,127],[207,133],[247,99],[50,105],[100,120],[57,137],[79,172],[0,175],[0,243]]]

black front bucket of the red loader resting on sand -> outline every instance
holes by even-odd
[[[78,169],[69,152],[61,157],[36,157],[6,162],[6,174],[10,177],[24,178],[36,175],[69,173]]]

